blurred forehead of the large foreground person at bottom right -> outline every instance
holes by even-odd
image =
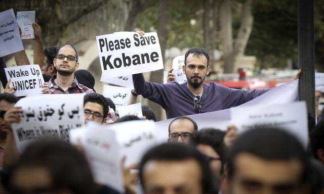
[[[303,171],[298,159],[266,160],[250,153],[238,154],[233,165],[233,177],[264,184],[296,183],[300,181]]]

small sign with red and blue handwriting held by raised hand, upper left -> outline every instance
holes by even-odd
[[[17,23],[21,29],[21,39],[35,38],[32,23],[35,22],[35,11],[17,12]]]

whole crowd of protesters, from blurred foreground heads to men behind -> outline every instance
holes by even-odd
[[[42,69],[46,81],[43,93],[86,93],[85,124],[156,121],[147,106],[142,106],[143,118],[119,118],[113,101],[96,93],[91,73],[78,70],[75,47],[64,44],[44,49],[41,28],[35,23],[33,27],[33,63]],[[15,53],[14,57],[17,66],[30,64],[24,51]],[[22,110],[15,106],[20,98],[14,95],[16,86],[10,86],[4,68],[6,62],[0,58],[0,76],[5,88],[0,94],[0,192],[119,193],[111,186],[96,183],[83,149],[66,141],[35,140],[18,153],[12,124],[20,122]],[[215,82],[205,84],[210,68],[208,53],[193,47],[185,54],[185,83],[175,82],[172,71],[166,84],[147,82],[143,74],[133,75],[130,104],[136,102],[137,95],[142,95],[163,107],[167,118],[173,120],[166,129],[168,142],[149,148],[138,164],[122,166],[125,192],[324,193],[324,122],[309,126],[309,143],[305,149],[299,139],[281,128],[259,127],[244,133],[238,133],[235,126],[229,126],[227,131],[201,129],[187,117],[235,107],[269,90],[232,89]],[[300,74],[301,71],[296,79]]]

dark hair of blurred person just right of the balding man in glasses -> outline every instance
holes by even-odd
[[[223,173],[223,167],[226,161],[226,146],[224,144],[225,134],[224,131],[219,129],[206,128],[197,131],[191,138],[191,142],[194,146],[197,146],[198,144],[206,144],[214,149],[221,159],[221,173]]]

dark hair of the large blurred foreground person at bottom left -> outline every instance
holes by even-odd
[[[9,190],[16,189],[12,180],[15,172],[31,166],[45,167],[51,174],[53,188],[67,188],[72,193],[96,192],[86,157],[68,142],[43,139],[30,143],[9,173]]]

